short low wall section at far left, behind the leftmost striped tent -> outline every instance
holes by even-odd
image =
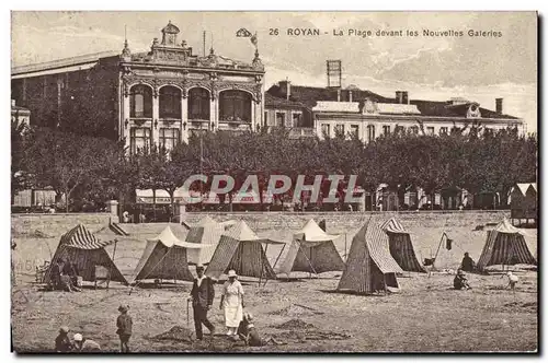
[[[109,225],[110,213],[53,213],[53,214],[12,214],[11,233],[13,236],[44,234],[58,237],[81,223],[91,231]]]

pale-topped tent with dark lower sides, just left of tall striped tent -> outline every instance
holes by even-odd
[[[342,271],[344,261],[333,243],[338,235],[327,234],[313,220],[293,236],[287,256],[276,272],[301,271],[321,273]]]

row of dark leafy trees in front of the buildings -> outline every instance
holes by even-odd
[[[312,184],[316,175],[338,174],[357,175],[357,185],[368,191],[387,184],[401,200],[414,187],[426,194],[464,188],[471,194],[499,192],[504,203],[515,183],[535,182],[534,136],[520,136],[514,129],[483,131],[477,126],[464,131],[454,129],[443,136],[393,132],[370,143],[344,134],[292,139],[284,129],[217,131],[195,134],[171,151],[152,145],[128,155],[124,142],[14,125],[12,192],[52,187],[67,201],[129,202],[139,188],[165,190],[173,202],[175,189],[193,174],[230,175],[235,190],[250,174],[258,175],[262,190],[271,175],[287,175],[294,184],[298,175],[306,175]],[[193,184],[195,190],[209,187],[209,183]],[[341,192],[344,187],[343,182]],[[323,184],[322,194],[329,188],[329,183]],[[293,190],[286,195],[293,196]],[[220,197],[231,201],[232,195]]]

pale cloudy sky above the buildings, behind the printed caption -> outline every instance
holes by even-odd
[[[408,91],[412,99],[465,97],[489,109],[502,97],[505,114],[524,118],[528,132],[537,129],[534,12],[13,12],[12,66],[121,51],[125,28],[132,51],[146,51],[168,21],[195,54],[206,31],[207,51],[213,45],[218,55],[249,62],[254,47],[236,32],[256,32],[266,87],[285,79],[326,86],[326,60],[340,59],[343,86],[392,97]],[[297,28],[321,35],[288,35]],[[351,36],[350,30],[373,35]],[[442,34],[425,36],[425,30]],[[471,37],[470,30],[486,36]],[[339,31],[343,36],[333,35]],[[453,35],[458,32],[464,35]]]

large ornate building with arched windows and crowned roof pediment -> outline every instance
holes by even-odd
[[[171,148],[197,130],[258,130],[264,67],[197,56],[171,22],[149,51],[104,52],[12,69],[12,98],[37,126]]]

